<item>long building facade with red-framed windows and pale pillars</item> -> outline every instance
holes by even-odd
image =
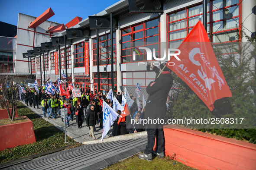
[[[210,0],[207,3],[207,33],[210,41],[246,41],[237,37],[241,30],[245,31],[247,35],[255,35],[256,18],[255,11],[253,12],[255,3],[255,0]],[[155,6],[161,6],[161,4],[155,3]],[[136,54],[134,47],[153,47],[156,49],[154,53],[157,58],[163,55],[166,48],[178,48],[193,26],[199,20],[202,21],[203,6],[202,0],[166,0],[163,3],[162,13],[130,13],[128,0],[120,0],[94,16],[109,16],[110,13],[113,14],[113,18],[117,22],[117,28],[113,30],[114,91],[122,91],[123,87],[126,87],[129,92],[135,95],[134,89],[137,82],[141,84],[142,91],[145,91],[149,82],[155,79],[155,72],[152,69],[147,69],[146,64],[139,65],[139,63],[154,63],[156,60],[146,60],[146,51],[141,50],[141,54]],[[29,23],[23,24],[24,27],[27,27]],[[89,27],[89,19],[87,18],[71,28],[84,29]],[[67,45],[67,60],[65,60],[64,46],[60,47],[61,63],[58,62],[58,66],[61,64],[61,72],[65,73],[65,62],[67,63],[69,83],[73,82],[75,86],[83,89],[88,88],[94,92],[101,90],[107,94],[112,88],[110,29],[99,29],[98,31],[100,87],[98,87],[97,82],[97,41],[94,29],[90,32],[90,38],[73,39],[72,44]],[[32,34],[35,33],[31,32]],[[66,31],[56,36],[63,35],[66,35]],[[21,44],[18,42],[18,36],[19,32],[17,44]],[[40,36],[41,38],[39,38]],[[49,41],[50,35],[40,36],[34,36],[34,42],[39,44]],[[38,44],[26,44],[26,49],[23,46],[23,50],[19,50],[19,53],[31,50],[31,47]],[[85,46],[87,44],[89,47],[90,74],[85,74]],[[18,45],[16,49],[19,49]],[[45,53],[42,60],[39,56],[32,58],[32,73],[35,73],[37,80],[41,79],[40,67],[45,66],[43,70],[45,77],[42,77],[42,82],[39,84],[49,79],[52,82],[57,81],[55,57],[58,55],[56,52],[56,50],[52,50]],[[135,58],[133,57],[134,53]],[[20,64],[16,63],[15,69],[24,68]]]

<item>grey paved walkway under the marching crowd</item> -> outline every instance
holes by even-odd
[[[25,102],[23,101],[20,101],[20,102],[26,106]],[[39,105],[39,109],[37,108],[34,109],[33,106],[32,107],[27,106],[27,107],[32,111],[34,111],[35,113],[37,113],[38,115],[40,115],[44,120],[48,121],[49,123],[52,123],[55,127],[65,132],[64,122],[62,122],[61,116],[58,116],[58,114],[57,114],[56,120],[52,118],[48,120],[47,117],[45,118],[43,115],[42,105]],[[86,122],[83,122],[82,128],[79,129],[78,123],[75,122],[75,116],[73,116],[73,119],[74,119],[73,121],[72,120],[69,121],[69,127],[66,127],[67,135],[79,143],[93,140],[93,138],[89,136],[90,130],[89,130],[89,127],[86,126]],[[98,132],[94,132],[94,135],[96,139],[101,139],[103,129],[100,128],[100,124],[96,125],[95,127]],[[112,134],[112,127],[110,128],[109,134],[110,135]],[[110,137],[110,135],[106,135],[105,138]]]

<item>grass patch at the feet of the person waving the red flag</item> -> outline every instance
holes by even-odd
[[[138,154],[123,160],[117,164],[113,164],[106,170],[193,170],[193,168],[181,164],[178,161],[173,161],[169,157],[160,159],[153,157],[152,161],[139,159]]]

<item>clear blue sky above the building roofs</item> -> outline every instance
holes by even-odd
[[[67,24],[76,16],[86,19],[99,13],[119,0],[0,0],[0,21],[18,24],[18,14],[39,17],[49,7],[55,13],[49,21]]]

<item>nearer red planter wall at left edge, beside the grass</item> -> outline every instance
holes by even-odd
[[[32,121],[26,119],[27,122],[0,126],[0,151],[36,142]]]

